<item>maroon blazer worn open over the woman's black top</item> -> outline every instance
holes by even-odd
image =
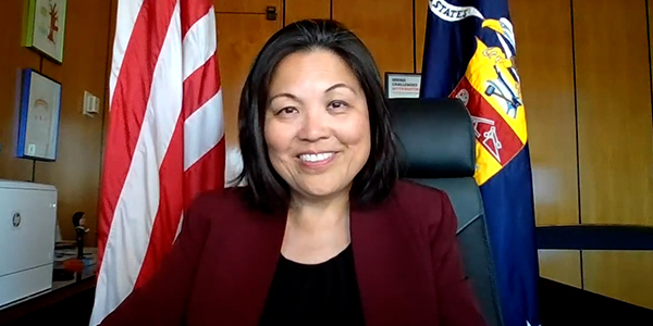
[[[286,214],[264,215],[242,195],[199,197],[160,272],[102,325],[257,325]],[[485,325],[463,273],[456,225],[444,192],[408,181],[383,204],[352,210],[366,325]]]

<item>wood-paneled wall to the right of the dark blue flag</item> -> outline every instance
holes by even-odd
[[[652,225],[648,3],[510,1],[539,225]],[[653,252],[546,250],[540,265],[544,277],[653,309]]]

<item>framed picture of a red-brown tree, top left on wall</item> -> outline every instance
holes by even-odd
[[[66,0],[26,0],[24,43],[56,62],[63,61]]]

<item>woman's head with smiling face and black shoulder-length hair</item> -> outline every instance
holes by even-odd
[[[245,82],[238,120],[241,178],[260,208],[285,209],[293,193],[309,195],[301,189],[311,178],[304,176],[320,164],[288,160],[299,161],[300,153],[333,153],[335,168],[312,180],[337,175],[331,183],[350,190],[354,204],[379,202],[394,186],[396,150],[377,65],[360,39],[336,22],[303,21],[272,36]]]

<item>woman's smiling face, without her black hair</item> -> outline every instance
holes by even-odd
[[[279,64],[264,124],[270,162],[294,196],[348,193],[370,153],[362,88],[326,50],[296,52]]]

